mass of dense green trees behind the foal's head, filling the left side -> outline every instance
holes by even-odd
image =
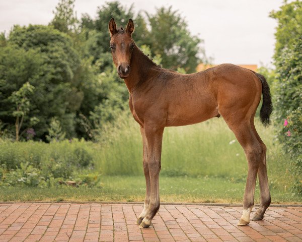
[[[109,2],[96,19],[86,14],[78,20],[74,0],[61,0],[53,13],[48,26],[17,25],[8,37],[0,35],[2,138],[93,140],[128,109],[128,91],[109,49],[112,17],[121,25],[133,18],[136,43],[163,67],[193,72],[202,53],[201,40],[171,7],[143,16]]]

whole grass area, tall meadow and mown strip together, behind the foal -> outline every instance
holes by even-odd
[[[121,116],[117,124],[108,126],[98,143],[76,144],[88,147],[94,163],[91,172],[101,174],[101,188],[0,186],[0,201],[143,201],[145,181],[139,127],[128,116]],[[267,145],[272,203],[302,203],[302,197],[291,191],[289,160],[274,141],[272,127],[264,128],[256,119],[256,128]],[[64,146],[67,148],[68,142]],[[165,129],[161,201],[241,203],[246,176],[244,152],[223,119]],[[258,198],[257,184],[256,203]]]

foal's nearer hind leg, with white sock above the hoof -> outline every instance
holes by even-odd
[[[249,119],[237,119],[237,122],[234,122],[236,120],[230,119],[231,118],[224,117],[226,124],[228,124],[230,129],[234,132],[237,140],[243,147],[248,160],[248,177],[243,199],[244,209],[242,217],[238,223],[238,225],[247,225],[250,222],[250,214],[254,206],[256,178],[259,163],[263,156],[263,148],[251,128]]]

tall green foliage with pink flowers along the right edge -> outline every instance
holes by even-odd
[[[271,15],[278,20],[273,85],[275,128],[293,165],[296,191],[302,194],[302,3],[285,2]]]

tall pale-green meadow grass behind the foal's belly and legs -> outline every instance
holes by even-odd
[[[274,142],[273,128],[256,128],[267,146],[267,169],[271,186],[290,188],[289,160],[280,144]],[[138,125],[121,118],[119,126],[103,135],[96,167],[104,175],[142,174],[142,144]],[[166,128],[162,148],[162,175],[213,176],[245,181],[247,161],[233,132],[222,118],[185,126]]]

